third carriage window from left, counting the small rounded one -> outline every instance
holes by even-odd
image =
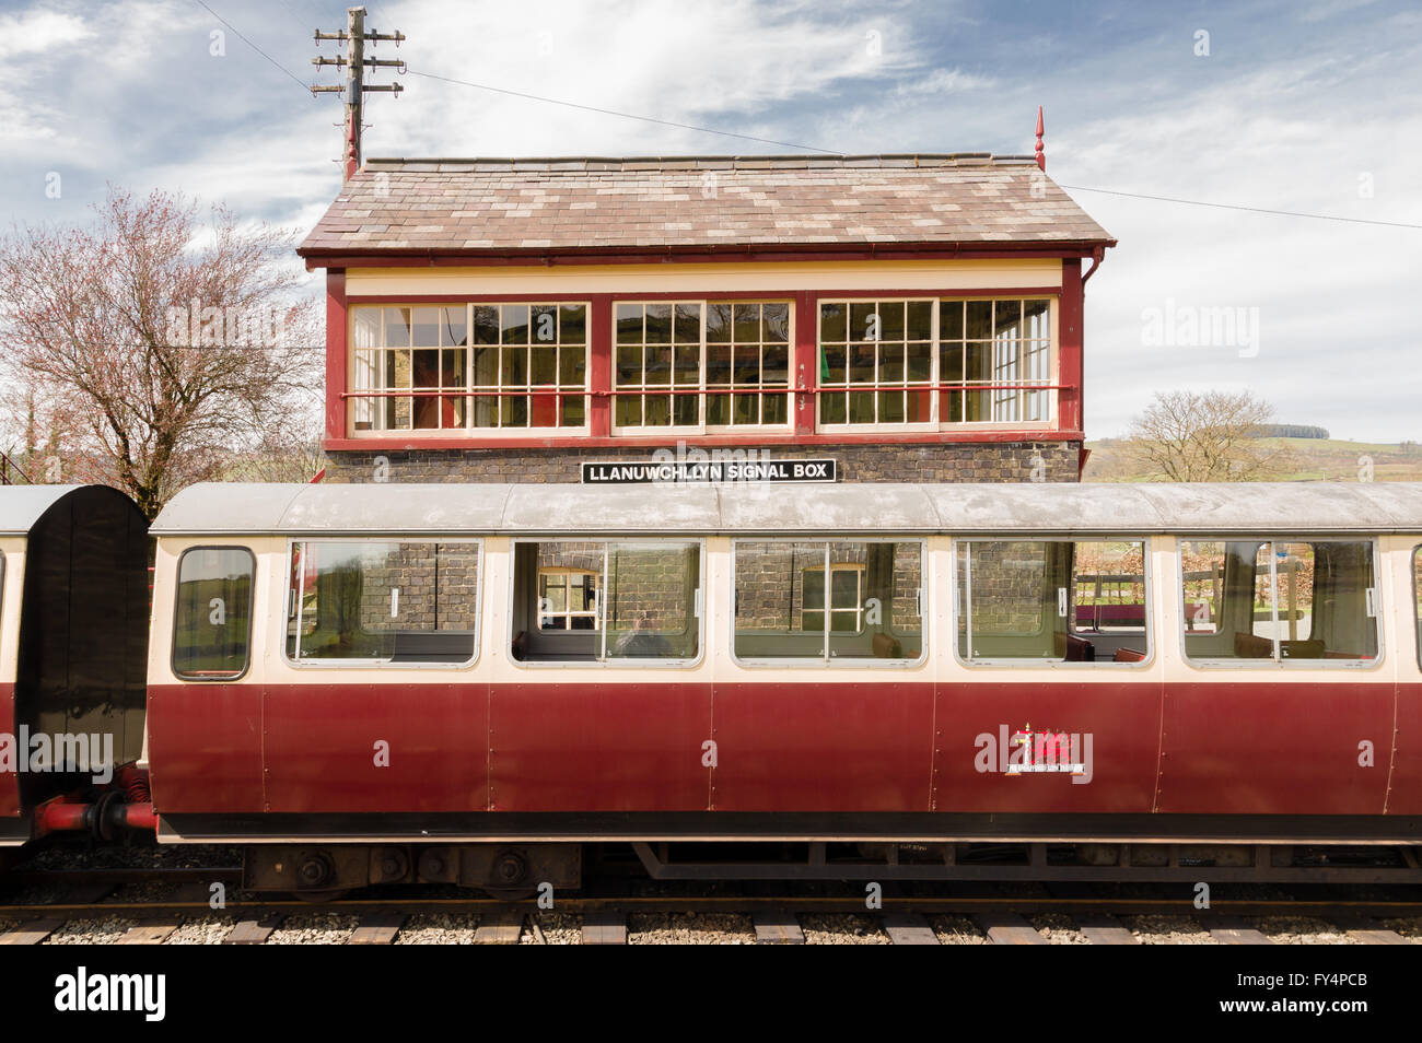
[[[519,543],[513,558],[515,659],[697,656],[698,543]]]

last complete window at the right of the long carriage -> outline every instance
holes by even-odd
[[[1180,568],[1189,659],[1378,656],[1369,541],[1183,541]]]

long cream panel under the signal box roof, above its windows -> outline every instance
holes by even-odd
[[[351,297],[434,294],[782,293],[791,290],[1005,290],[1059,287],[1061,259],[717,264],[557,264],[348,269]]]

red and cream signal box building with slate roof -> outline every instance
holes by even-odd
[[[327,273],[328,480],[1075,482],[1115,240],[1041,166],[367,161],[299,250]]]

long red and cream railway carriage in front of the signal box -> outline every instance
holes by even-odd
[[[152,531],[159,838],[256,888],[1416,878],[1422,486],[203,485]]]

